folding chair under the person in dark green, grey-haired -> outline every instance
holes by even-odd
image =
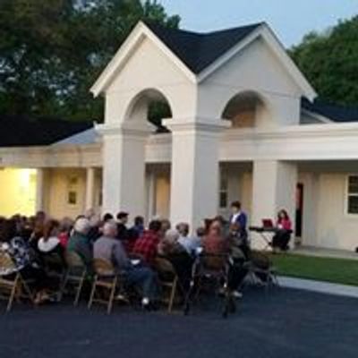
[[[80,301],[83,285],[88,277],[88,270],[81,256],[75,251],[66,251],[65,260],[67,270],[64,275],[63,290],[65,291],[66,287],[70,285],[75,288],[73,305],[77,306]]]

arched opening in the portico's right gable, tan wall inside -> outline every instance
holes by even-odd
[[[222,118],[230,120],[233,128],[259,127],[269,118],[268,106],[257,92],[241,92],[227,102]]]

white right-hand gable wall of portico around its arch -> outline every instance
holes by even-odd
[[[302,90],[261,39],[234,55],[200,84],[198,114],[220,118],[227,102],[247,90],[259,93],[268,107],[269,115],[260,115],[260,128],[299,124]]]

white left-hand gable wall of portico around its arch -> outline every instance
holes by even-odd
[[[151,39],[144,38],[107,89],[106,124],[118,124],[128,119],[136,96],[149,89],[164,95],[174,117],[195,113],[196,87]]]

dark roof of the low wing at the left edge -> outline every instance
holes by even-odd
[[[90,122],[0,115],[0,147],[46,146],[92,126]]]

